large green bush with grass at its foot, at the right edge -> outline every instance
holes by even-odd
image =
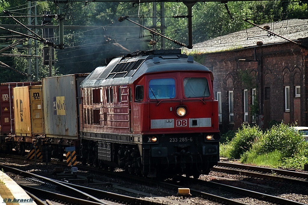
[[[276,124],[265,131],[241,156],[243,163],[303,168],[308,163],[308,143],[303,136],[287,124]],[[261,161],[264,161],[263,164]]]

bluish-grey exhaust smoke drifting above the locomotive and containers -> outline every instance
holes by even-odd
[[[112,22],[87,32],[64,30],[67,42],[63,50],[57,50],[56,66],[59,73],[89,73],[105,63],[105,58],[127,55],[138,50],[147,50],[148,31],[130,22]],[[144,34],[143,34],[144,33]],[[77,41],[70,43],[69,41]]]

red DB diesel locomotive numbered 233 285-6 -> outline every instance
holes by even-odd
[[[195,178],[219,161],[213,74],[180,50],[114,58],[81,90],[81,148],[90,164]]]

